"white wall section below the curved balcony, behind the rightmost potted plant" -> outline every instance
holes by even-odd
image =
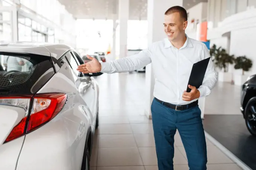
[[[230,54],[236,57],[245,55],[253,61],[253,67],[245,72],[246,75],[256,74],[255,32],[256,27],[231,31]]]

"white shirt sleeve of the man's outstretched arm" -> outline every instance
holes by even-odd
[[[151,50],[149,48],[140,51],[138,54],[118,60],[101,63],[102,73],[124,73],[141,69],[151,63]]]

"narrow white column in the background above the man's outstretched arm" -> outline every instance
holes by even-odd
[[[120,28],[120,46],[119,58],[126,57],[127,51],[127,27],[129,19],[129,0],[119,0],[119,28]]]

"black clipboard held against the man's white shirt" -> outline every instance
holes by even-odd
[[[203,84],[204,75],[206,73],[206,69],[209,64],[210,58],[211,57],[198,61],[197,63],[193,64],[190,77],[189,77],[189,82],[187,84],[187,92],[191,91],[191,89],[189,88],[189,85],[199,88]]]

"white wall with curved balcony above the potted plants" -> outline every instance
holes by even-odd
[[[240,1],[238,1],[240,3]],[[240,6],[241,7],[241,6]],[[253,67],[245,75],[256,74],[256,9],[247,9],[245,11],[230,15],[218,24],[217,28],[209,28],[207,38],[210,39],[210,45],[216,44],[227,49],[229,54],[247,56],[253,61]],[[230,40],[224,35],[229,35]],[[234,66],[229,67],[229,72],[239,73]]]

